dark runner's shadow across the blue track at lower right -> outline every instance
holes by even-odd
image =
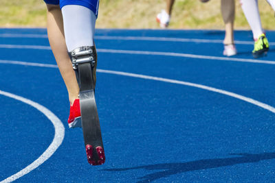
[[[102,171],[128,171],[134,169],[146,169],[146,170],[163,170],[155,173],[150,173],[138,178],[138,182],[151,182],[160,178],[166,178],[170,175],[177,173],[184,173],[186,171],[196,171],[201,169],[212,169],[217,167],[227,167],[234,164],[259,162],[261,160],[270,160],[275,158],[275,152],[263,153],[263,154],[230,154],[234,158],[216,158],[206,160],[195,160],[191,162],[179,162],[179,163],[165,163],[165,164],[152,164],[140,167],[124,168],[124,169],[103,169]]]

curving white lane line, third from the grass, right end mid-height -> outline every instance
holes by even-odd
[[[19,61],[16,61],[16,62],[19,62]],[[25,62],[22,62],[21,65],[23,65],[24,63]],[[28,66],[41,66],[41,64],[39,64],[39,63],[32,63],[32,64],[27,64],[27,65]],[[54,68],[54,65],[47,66],[47,64],[45,64],[44,67]],[[255,106],[259,106],[260,108],[264,108],[266,110],[269,110],[270,112],[275,113],[275,108],[274,107],[272,107],[270,105],[267,105],[266,103],[263,103],[261,101],[257,101],[255,99],[251,99],[251,98],[245,97],[243,95],[232,93],[232,92],[229,92],[227,90],[221,90],[221,89],[218,89],[218,88],[213,88],[213,87],[202,85],[202,84],[195,84],[195,83],[184,82],[184,81],[179,81],[179,80],[170,80],[170,79],[166,79],[166,78],[163,78],[163,77],[154,77],[154,76],[150,76],[150,75],[126,73],[126,72],[121,72],[121,71],[109,71],[109,70],[103,70],[103,69],[97,69],[96,71],[98,73],[109,73],[109,74],[114,74],[114,75],[124,75],[124,76],[128,76],[128,77],[135,77],[135,78],[140,78],[140,79],[144,79],[144,80],[155,80],[155,81],[159,81],[159,82],[167,82],[167,83],[180,84],[180,85],[185,85],[185,86],[192,86],[192,87],[195,87],[195,88],[201,88],[203,90],[209,90],[209,91],[212,91],[214,93],[220,93],[220,94],[223,94],[223,95],[228,95],[230,97],[234,97],[236,99],[240,99],[242,101],[252,103]]]

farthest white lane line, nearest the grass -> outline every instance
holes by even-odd
[[[0,38],[47,38],[47,34],[0,34]],[[198,38],[166,38],[151,36],[95,36],[97,40],[148,40],[162,42],[197,42],[197,43],[219,43],[223,40],[198,39]],[[254,45],[254,41],[234,40],[236,45]],[[275,42],[269,42],[275,45]]]

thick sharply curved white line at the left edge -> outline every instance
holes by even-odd
[[[32,164],[29,164],[28,167],[25,167],[25,169],[22,169],[18,173],[15,173],[14,175],[10,176],[9,178],[6,178],[5,180],[2,180],[0,183],[6,183],[6,182],[12,182],[14,180],[17,180],[18,178],[21,178],[23,175],[29,173],[30,171],[36,169],[41,165],[43,162],[45,162],[47,159],[49,159],[56,149],[61,145],[63,142],[63,138],[65,136],[65,128],[63,123],[61,122],[58,117],[54,113],[52,113],[50,110],[45,108],[44,106],[41,106],[39,103],[36,103],[34,101],[31,101],[30,99],[25,99],[23,97],[20,97],[18,95],[14,95],[12,93],[8,93],[5,91],[0,90],[0,95],[4,95],[6,97],[10,97],[12,99],[17,99],[19,101],[22,101],[23,103],[27,103],[28,105],[36,108],[40,112],[42,112],[54,125],[54,139],[49,147],[44,151],[44,153],[36,159]]]

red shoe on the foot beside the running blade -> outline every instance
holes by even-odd
[[[75,99],[73,106],[69,108],[68,124],[69,124],[69,128],[82,127],[79,99]]]

